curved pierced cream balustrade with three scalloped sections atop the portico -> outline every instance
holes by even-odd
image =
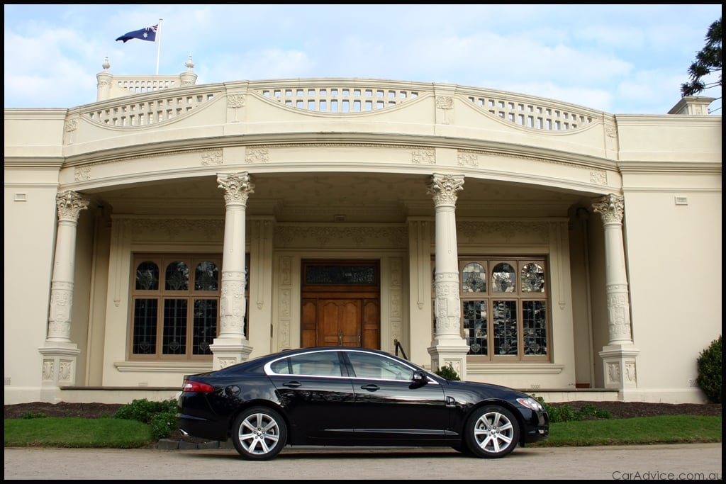
[[[320,114],[359,114],[397,107],[429,94],[436,107],[454,109],[454,99],[470,102],[486,115],[537,131],[574,131],[602,118],[601,112],[550,99],[528,97],[449,84],[409,83],[361,79],[311,79],[250,81],[170,89],[171,86],[132,81],[124,89],[140,94],[88,104],[82,114],[109,126],[139,127],[171,120],[195,110],[230,91],[239,103],[240,94],[255,93],[288,108]],[[166,82],[166,81],[165,81]],[[238,86],[242,86],[240,90]],[[233,92],[232,92],[233,90]],[[145,93],[145,94],[141,94]],[[446,94],[441,94],[446,93]],[[230,105],[230,107],[241,107]]]

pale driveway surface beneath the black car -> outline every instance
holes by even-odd
[[[722,444],[517,448],[475,459],[449,448],[285,448],[248,462],[230,449],[5,448],[8,479],[722,479]]]

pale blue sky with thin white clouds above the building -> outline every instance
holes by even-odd
[[[5,107],[94,102],[105,57],[114,74],[157,62],[179,74],[191,55],[197,84],[381,78],[666,114],[721,15],[721,4],[5,4]],[[115,41],[159,19],[157,42]]]

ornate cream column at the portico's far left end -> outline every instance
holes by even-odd
[[[57,387],[76,384],[76,358],[81,351],[70,340],[70,318],[73,313],[78,216],[88,205],[89,201],[83,200],[76,192],[60,192],[56,196],[58,229],[50,287],[48,335],[43,347],[39,348],[43,355],[41,392],[46,401],[53,401]]]

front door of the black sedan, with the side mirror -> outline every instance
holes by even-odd
[[[440,440],[449,408],[438,382],[412,382],[414,368],[364,351],[346,351],[355,392],[356,440]]]

